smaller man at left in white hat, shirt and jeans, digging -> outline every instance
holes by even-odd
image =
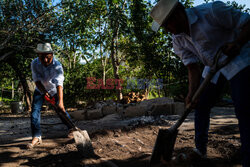
[[[28,144],[28,148],[41,143],[40,110],[44,102],[44,96],[54,96],[58,107],[66,112],[63,104],[64,76],[61,63],[53,57],[50,43],[38,44],[35,52],[38,57],[32,61],[31,70],[36,89],[33,95],[31,112],[32,142]]]

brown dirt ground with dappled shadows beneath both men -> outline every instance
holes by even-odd
[[[173,161],[161,166],[240,165],[240,139],[233,108],[214,108],[211,114],[208,159],[183,159],[194,147],[194,116],[191,114],[179,128]],[[86,167],[145,167],[149,160],[159,128],[168,128],[177,116],[139,117],[122,119],[111,115],[101,120],[76,122],[87,129],[96,157],[77,152],[74,141],[66,138],[64,125],[55,116],[42,120],[43,143],[27,150],[30,141],[28,116],[0,115],[0,166],[86,166]],[[47,124],[46,124],[47,123]],[[183,153],[183,154],[182,154]]]

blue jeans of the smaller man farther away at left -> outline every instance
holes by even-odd
[[[58,96],[55,95],[56,103],[58,103]],[[41,132],[41,108],[44,102],[44,95],[41,95],[39,91],[35,90],[33,95],[33,102],[32,102],[32,111],[31,111],[31,133],[32,137],[40,137],[42,135]],[[67,116],[70,118],[69,114],[66,112]],[[59,115],[60,117],[60,115]],[[61,117],[60,119],[62,122],[68,127],[71,128]]]

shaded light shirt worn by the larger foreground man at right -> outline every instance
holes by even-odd
[[[186,9],[186,13],[190,36],[184,33],[173,35],[173,48],[184,65],[202,62],[205,65],[202,76],[205,77],[217,50],[237,38],[242,26],[250,21],[250,15],[220,1]],[[225,58],[222,55],[220,62]],[[243,46],[240,55],[216,73],[212,82],[217,82],[220,73],[230,80],[249,65],[250,42]]]

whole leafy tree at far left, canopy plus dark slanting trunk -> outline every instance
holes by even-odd
[[[1,0],[0,4],[0,61],[15,71],[24,89],[27,109],[31,110],[31,92],[26,81],[30,76],[29,58],[34,55],[34,46],[44,42],[45,35],[52,35],[56,15],[49,1]]]

